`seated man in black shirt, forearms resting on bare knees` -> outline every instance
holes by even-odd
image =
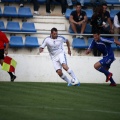
[[[87,24],[87,15],[85,11],[81,10],[81,3],[77,2],[76,10],[71,12],[69,21],[74,33],[78,33],[79,31],[81,34],[84,33]],[[80,37],[82,38],[83,36]]]

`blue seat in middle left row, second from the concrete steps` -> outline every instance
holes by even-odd
[[[13,21],[8,21],[7,26],[6,26],[7,31],[13,31],[13,32],[20,32],[20,24],[19,22],[13,22]]]

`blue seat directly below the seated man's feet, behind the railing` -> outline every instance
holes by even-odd
[[[85,48],[87,48],[88,46],[86,45],[84,39],[74,38],[74,39],[73,39],[73,42],[72,42],[72,47],[73,47],[73,48],[79,48],[79,49],[85,49]]]

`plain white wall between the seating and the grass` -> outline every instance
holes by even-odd
[[[15,82],[64,82],[56,74],[52,61],[48,55],[15,55],[10,54],[17,61]],[[81,83],[105,83],[104,74],[94,69],[94,63],[101,57],[68,56],[68,65],[75,72]],[[110,71],[116,83],[120,84],[120,57],[111,65]],[[64,73],[67,74],[66,71]],[[0,70],[0,81],[10,81],[7,72]]]

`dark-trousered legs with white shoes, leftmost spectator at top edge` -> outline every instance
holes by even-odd
[[[31,0],[34,6],[34,15],[39,15],[38,9],[39,9],[39,3],[37,0]],[[24,0],[20,0],[20,7],[24,7]]]

